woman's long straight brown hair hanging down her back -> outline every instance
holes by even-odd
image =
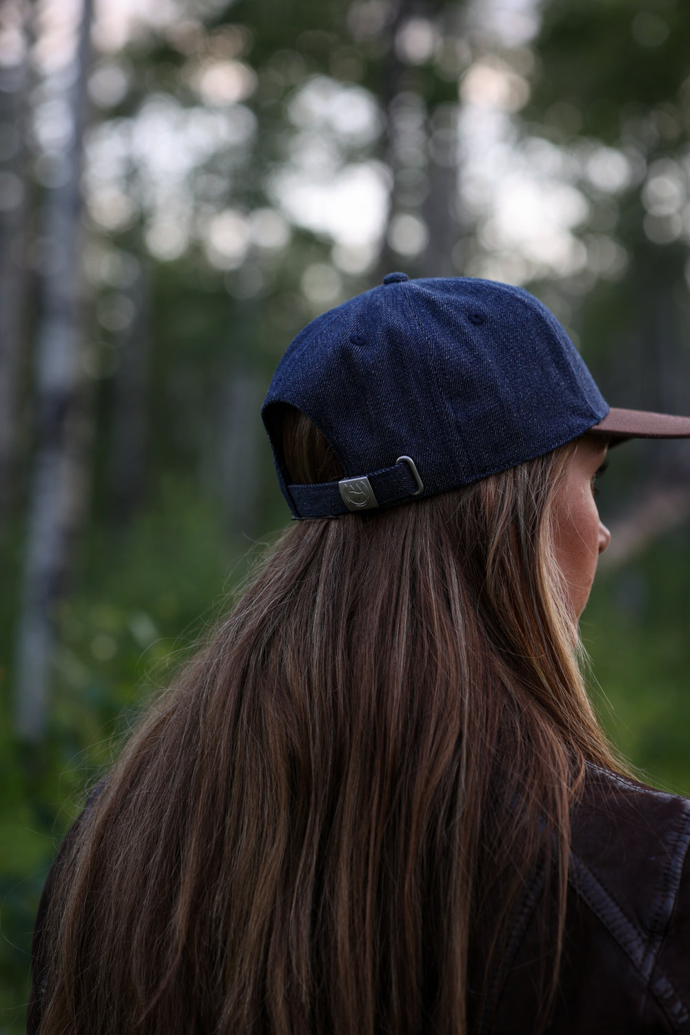
[[[292,411],[283,449],[341,476]],[[616,766],[553,559],[572,450],[278,539],[74,830],[41,1033],[463,1035],[537,868],[548,1002],[569,808]]]

